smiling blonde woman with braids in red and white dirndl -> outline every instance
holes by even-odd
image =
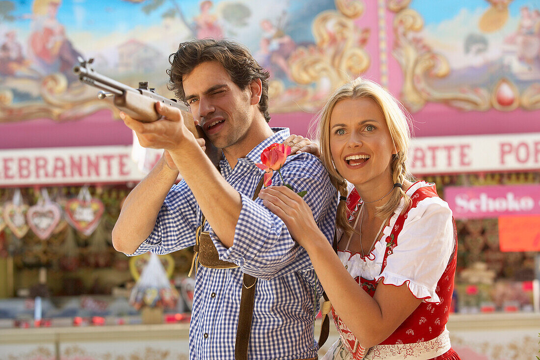
[[[340,197],[337,255],[292,190],[260,192],[307,250],[332,303],[340,339],[323,359],[459,359],[446,330],[454,222],[433,183],[411,181],[407,120],[389,92],[362,78],[323,108],[321,159],[341,194],[354,186]]]

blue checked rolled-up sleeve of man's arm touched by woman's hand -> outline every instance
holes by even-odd
[[[303,199],[323,234],[332,242],[337,196],[319,159],[311,154],[292,156],[281,169],[281,175],[294,191],[307,191]],[[283,185],[278,174],[274,174],[272,184]],[[242,209],[233,245],[225,248],[210,230],[220,259],[238,264],[242,271],[263,279],[312,269],[307,252],[294,241],[283,221],[269,211],[260,198],[241,197]]]

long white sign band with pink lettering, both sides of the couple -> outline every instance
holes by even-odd
[[[0,186],[139,181],[162,151],[135,150],[130,145],[0,150]],[[540,133],[416,138],[408,168],[417,176],[537,170]]]

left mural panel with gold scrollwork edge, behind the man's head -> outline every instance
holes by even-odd
[[[336,5],[337,8],[336,9]],[[181,41],[232,38],[272,74],[274,111],[316,110],[327,92],[369,64],[359,2],[180,0],[0,1],[0,122],[80,118],[110,105],[73,74],[78,58],[128,85],[166,89]],[[312,31],[313,28],[313,31]],[[339,31],[338,31],[339,30]],[[355,42],[355,43],[353,43]],[[315,106],[313,105],[315,104]]]

